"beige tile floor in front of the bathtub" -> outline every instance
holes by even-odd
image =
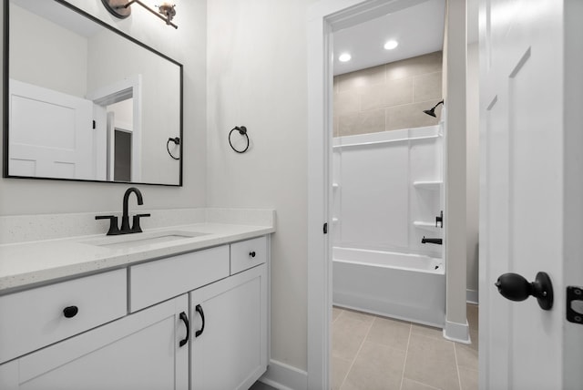
[[[442,330],[332,309],[332,390],[477,389],[477,306],[467,305],[473,344]]]

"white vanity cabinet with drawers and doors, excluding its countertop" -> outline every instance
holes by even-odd
[[[0,296],[0,389],[248,389],[267,368],[268,242]]]

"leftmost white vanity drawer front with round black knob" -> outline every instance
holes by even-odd
[[[123,317],[127,293],[118,270],[0,296],[0,364]]]

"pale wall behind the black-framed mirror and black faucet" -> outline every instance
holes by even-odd
[[[178,30],[134,6],[128,19],[109,15],[100,1],[70,3],[117,26],[184,66],[184,186],[140,185],[144,207],[203,207],[206,203],[206,1],[176,0]],[[34,26],[28,26],[31,30]],[[165,147],[164,147],[165,148]],[[0,180],[0,215],[119,211],[126,184],[60,180]]]

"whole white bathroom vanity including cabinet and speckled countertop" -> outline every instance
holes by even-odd
[[[0,388],[249,388],[269,358],[271,232],[205,222],[0,245]]]

